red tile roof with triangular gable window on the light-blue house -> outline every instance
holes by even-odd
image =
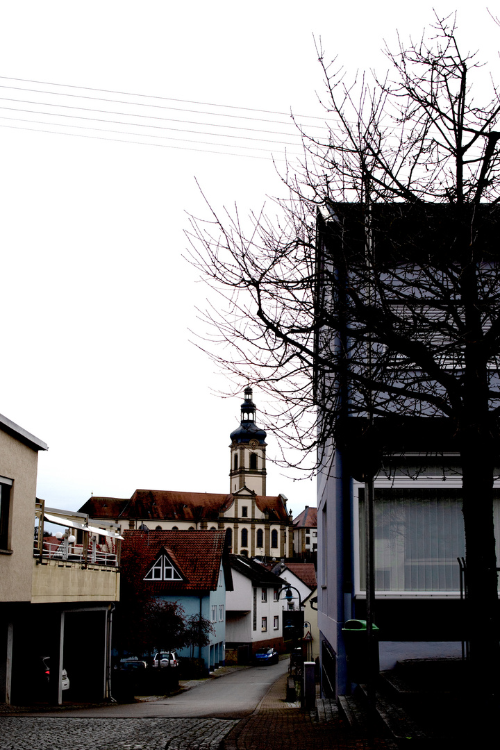
[[[148,582],[155,592],[214,591],[220,563],[229,567],[225,531],[125,531],[122,554],[133,553],[142,577],[165,550],[183,581]],[[230,580],[230,574],[229,574]],[[226,577],[226,586],[229,581]],[[232,584],[231,584],[232,585]]]

